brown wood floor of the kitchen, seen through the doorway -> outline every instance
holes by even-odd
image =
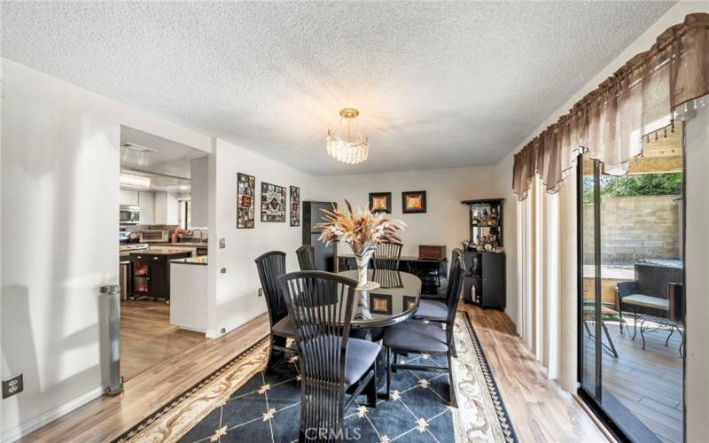
[[[125,381],[206,340],[204,333],[170,324],[170,307],[163,301],[121,302],[121,374]]]

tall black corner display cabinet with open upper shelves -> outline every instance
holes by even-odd
[[[470,208],[470,240],[464,242],[463,299],[504,310],[507,303],[503,253],[503,198],[465,200]]]

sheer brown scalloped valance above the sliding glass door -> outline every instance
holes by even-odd
[[[674,109],[709,94],[709,14],[688,15],[631,58],[515,155],[512,190],[526,198],[534,175],[556,192],[580,147],[609,169],[643,152],[643,135],[672,124]]]

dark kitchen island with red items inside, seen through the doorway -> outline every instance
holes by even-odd
[[[170,301],[170,260],[191,257],[190,251],[130,253],[129,299]]]

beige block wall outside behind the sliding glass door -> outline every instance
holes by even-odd
[[[679,214],[674,196],[604,197],[601,203],[603,264],[638,259],[679,259]],[[593,263],[593,206],[583,206],[584,263]]]

